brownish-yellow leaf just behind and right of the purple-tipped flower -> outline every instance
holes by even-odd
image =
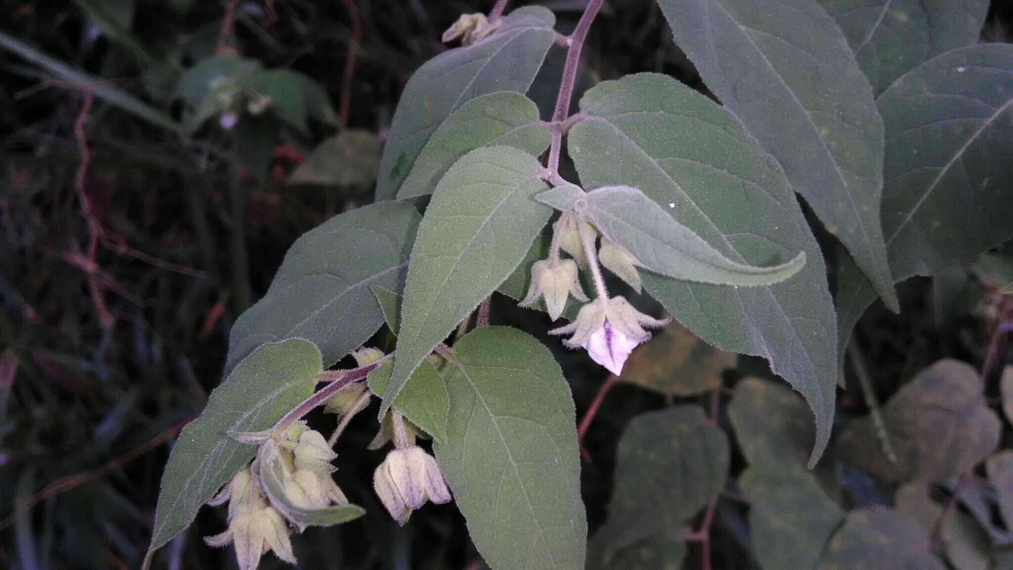
[[[668,396],[686,398],[721,386],[721,373],[738,355],[718,350],[674,320],[633,351],[619,380]]]

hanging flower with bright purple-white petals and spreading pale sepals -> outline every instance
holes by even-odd
[[[644,329],[663,327],[669,320],[640,312],[621,296],[599,297],[583,305],[572,323],[549,334],[571,335],[563,340],[564,346],[583,348],[592,360],[618,376],[633,349],[650,339]]]

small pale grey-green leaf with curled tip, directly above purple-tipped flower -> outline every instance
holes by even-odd
[[[587,216],[599,231],[636,258],[641,267],[667,277],[757,287],[785,281],[805,265],[805,252],[770,267],[731,261],[635,188],[599,188],[588,193],[586,202]]]

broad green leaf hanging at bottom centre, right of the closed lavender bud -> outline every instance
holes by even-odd
[[[496,570],[582,569],[576,415],[547,348],[516,329],[477,329],[454,346],[447,443],[437,460],[478,552]]]

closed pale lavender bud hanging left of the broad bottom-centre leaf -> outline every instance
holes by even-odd
[[[387,512],[403,525],[425,501],[451,500],[437,460],[421,447],[394,449],[373,474],[373,488]]]

